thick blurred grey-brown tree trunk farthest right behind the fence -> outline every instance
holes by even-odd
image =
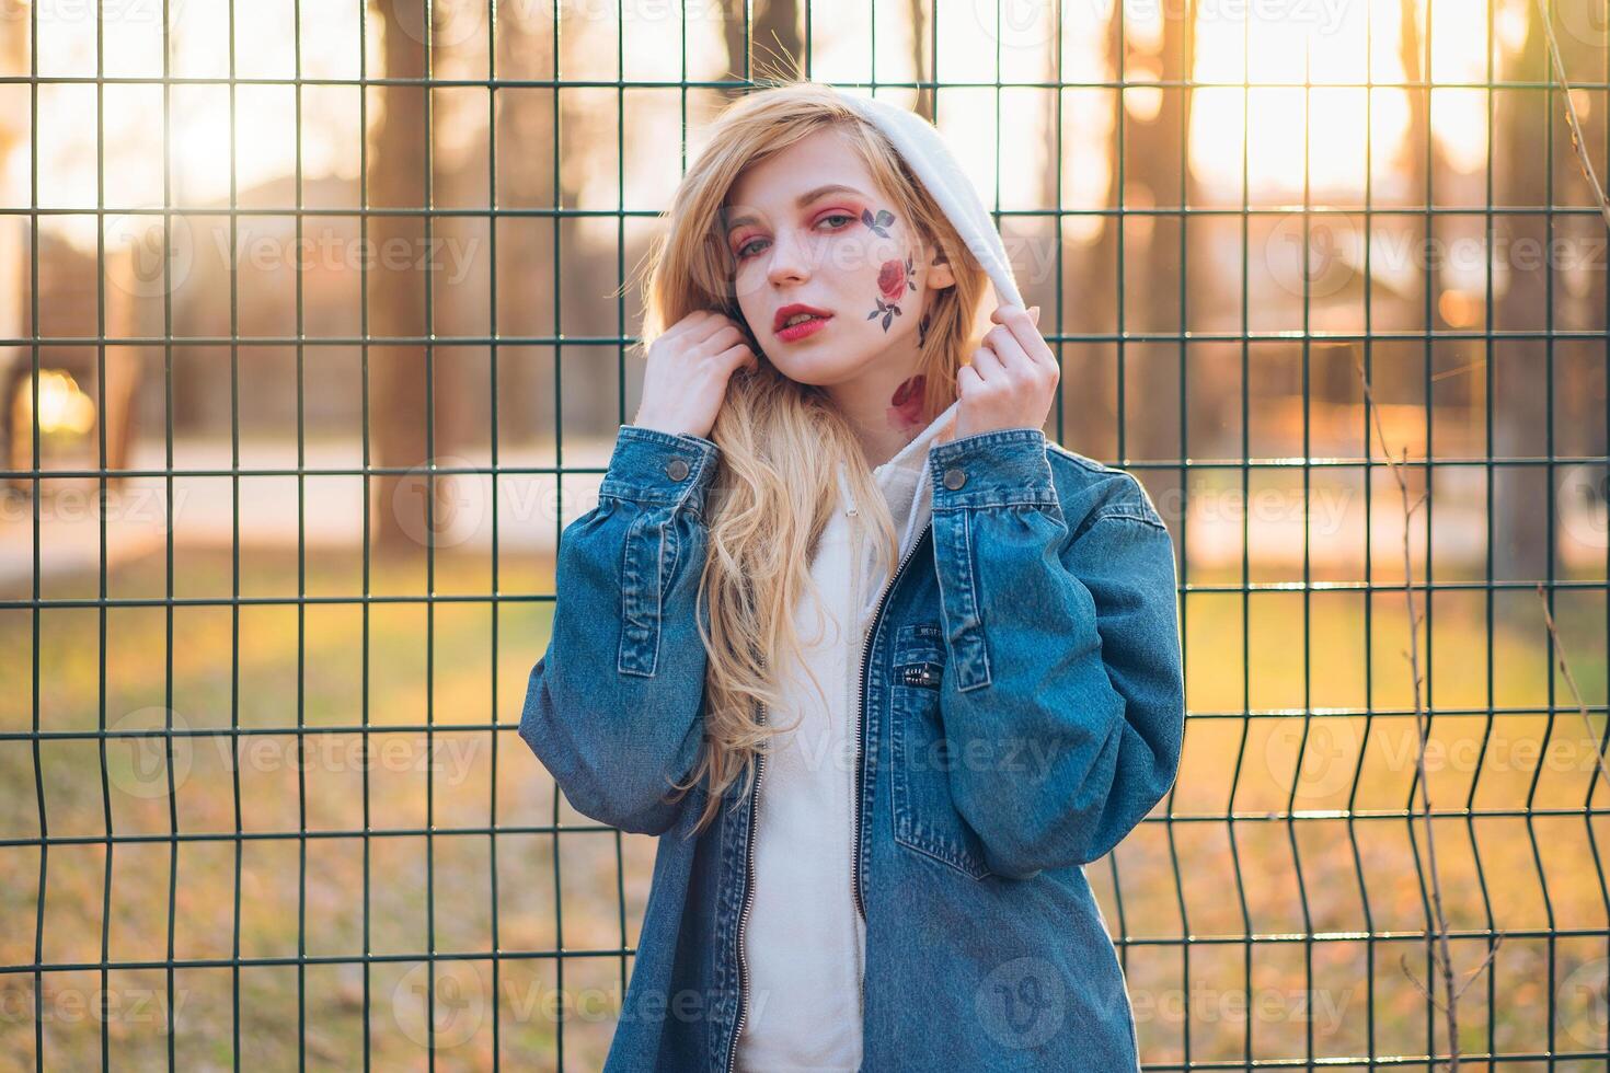
[[[1518,10],[1526,19],[1526,39],[1518,53],[1505,56],[1507,63],[1499,77],[1505,80],[1547,77],[1547,47],[1544,29],[1538,23],[1538,10],[1533,3],[1518,5]],[[1552,122],[1549,95],[1542,90],[1501,93],[1492,122],[1496,154],[1492,166],[1505,177],[1502,187],[1509,193],[1509,203],[1542,206],[1549,196],[1544,174],[1547,159],[1539,151],[1542,137],[1538,132]],[[1539,249],[1547,249],[1549,228],[1541,212],[1499,216],[1494,217],[1492,227],[1494,238],[1502,240],[1501,251],[1513,251],[1517,243],[1538,243]],[[1510,257],[1505,283],[1496,296],[1496,323],[1502,328],[1541,327],[1547,304],[1546,283],[1544,269],[1536,265],[1526,269]],[[1542,339],[1518,339],[1494,346],[1496,357],[1509,359],[1499,362],[1496,373],[1513,375],[1512,370],[1525,368],[1526,378],[1533,380],[1531,386],[1497,391],[1499,397],[1488,401],[1494,409],[1494,455],[1541,450],[1539,430],[1547,420],[1547,384],[1538,389],[1536,381],[1547,372],[1544,351]],[[1513,360],[1517,356],[1523,356],[1523,360]],[[1502,386],[1502,378],[1494,376],[1494,383]],[[1544,500],[1536,491],[1528,494],[1528,487],[1536,489],[1539,473],[1542,471],[1534,467],[1494,467],[1492,576],[1497,579],[1541,579],[1547,568],[1549,520],[1541,510]]]

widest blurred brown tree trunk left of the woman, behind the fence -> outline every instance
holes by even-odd
[[[382,19],[385,48],[383,77],[425,76],[425,45],[419,31],[425,24],[427,0],[369,0]],[[386,85],[375,90],[382,116],[369,151],[369,199],[372,208],[420,209],[425,204],[427,129],[425,88]],[[425,272],[431,262],[425,249],[423,216],[374,216],[369,240],[375,249],[370,283],[372,336],[425,335]],[[430,421],[425,384],[427,347],[417,343],[370,347],[370,431],[374,462],[382,467],[419,467],[427,462]],[[438,386],[441,381],[438,380]],[[438,455],[452,450],[444,438],[435,441]],[[436,532],[452,520],[454,478],[436,478]],[[372,505],[374,547],[407,550],[420,547],[427,529],[427,481],[417,473],[375,478]]]

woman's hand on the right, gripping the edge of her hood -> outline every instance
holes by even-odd
[[[997,327],[984,335],[972,362],[956,372],[961,407],[945,439],[1000,428],[1045,428],[1061,370],[1040,336],[1040,307],[1003,304],[990,314]]]

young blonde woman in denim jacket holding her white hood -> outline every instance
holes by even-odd
[[[1179,767],[1174,545],[1046,441],[1056,359],[960,174],[903,109],[768,87],[652,251],[520,722],[662,835],[607,1070],[1138,1068],[1082,865]]]

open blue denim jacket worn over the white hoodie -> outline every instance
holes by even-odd
[[[734,782],[699,835],[705,785],[667,801],[702,742],[718,450],[620,428],[597,507],[560,537],[520,719],[580,812],[660,837],[607,1071],[731,1073],[766,999],[741,956],[753,788]],[[861,1068],[1138,1070],[1084,865],[1179,771],[1172,539],[1132,475],[1040,430],[935,444],[927,465],[932,520],[869,619],[853,713]]]

